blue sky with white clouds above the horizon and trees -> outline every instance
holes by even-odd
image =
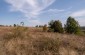
[[[24,22],[25,26],[48,24],[69,16],[85,26],[85,0],[0,0],[0,25]]]

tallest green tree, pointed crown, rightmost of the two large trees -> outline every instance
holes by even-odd
[[[74,18],[68,17],[65,25],[65,31],[70,34],[78,34],[80,33],[80,26]]]

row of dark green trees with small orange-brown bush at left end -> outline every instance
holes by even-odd
[[[69,33],[69,34],[83,34],[78,21],[73,17],[68,17],[64,27],[60,20],[51,20],[47,25],[43,26],[43,31]]]

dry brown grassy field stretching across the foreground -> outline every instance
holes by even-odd
[[[85,55],[85,37],[42,28],[0,27],[0,55]]]

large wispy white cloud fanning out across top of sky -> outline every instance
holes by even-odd
[[[28,19],[36,18],[42,10],[50,6],[56,0],[6,0],[10,4],[11,11],[20,11]],[[39,23],[37,20],[31,22]]]

